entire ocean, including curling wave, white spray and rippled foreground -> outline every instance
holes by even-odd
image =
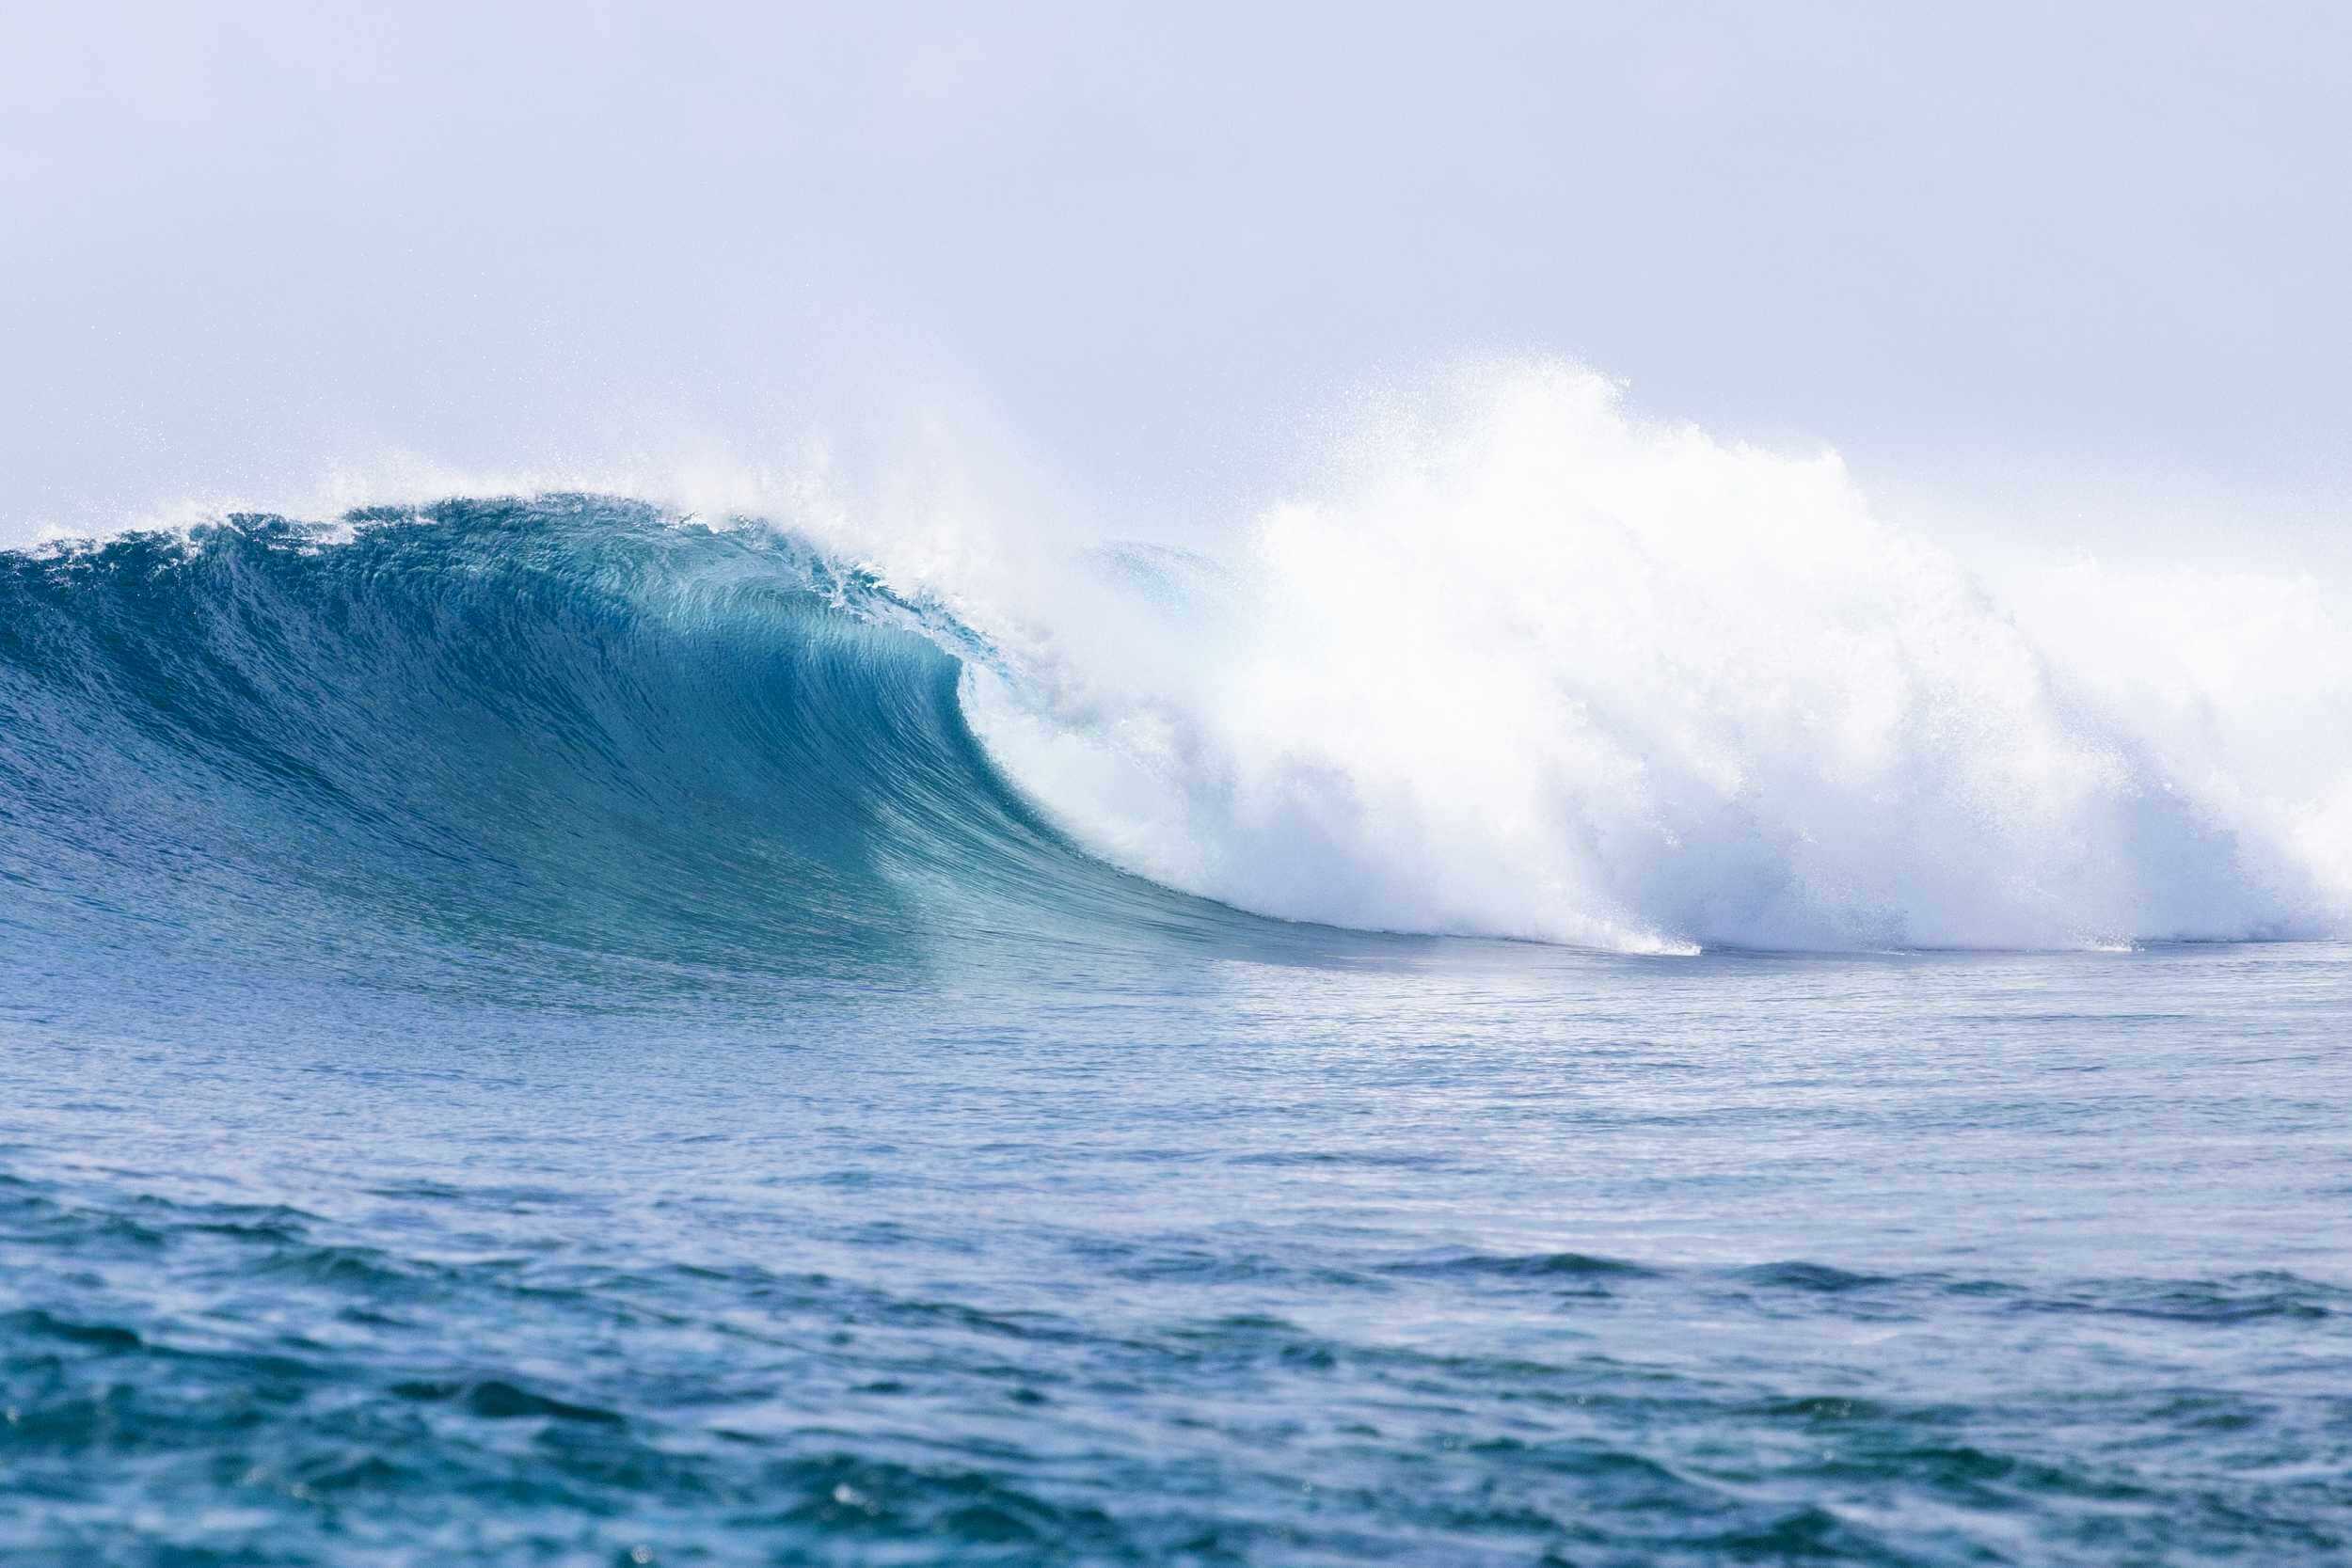
[[[2352,1549],[2352,644],[1470,367],[0,552],[0,1549]]]

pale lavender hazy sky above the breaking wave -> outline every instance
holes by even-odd
[[[2347,19],[0,7],[0,538],[941,388],[1143,505],[1489,353],[1889,484],[2345,515]]]

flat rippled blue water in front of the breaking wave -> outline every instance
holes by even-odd
[[[2326,945],[61,973],[0,1025],[0,1547],[2331,1561],[2347,994]]]

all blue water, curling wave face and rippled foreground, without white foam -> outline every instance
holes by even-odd
[[[2352,947],[1268,922],[988,656],[588,498],[0,557],[0,1554],[2352,1554]]]

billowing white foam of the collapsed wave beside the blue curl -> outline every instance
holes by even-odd
[[[2345,919],[2319,585],[2070,567],[2020,614],[1835,456],[1571,367],[1397,400],[1216,559],[1103,581],[976,724],[1084,842],[1249,910],[1635,950]]]

